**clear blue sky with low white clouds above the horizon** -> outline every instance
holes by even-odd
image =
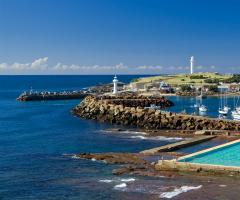
[[[0,0],[0,74],[240,73],[237,0]]]

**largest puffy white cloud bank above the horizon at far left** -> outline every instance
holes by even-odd
[[[35,60],[34,62],[26,63],[26,64],[20,64],[20,63],[14,63],[13,65],[9,66],[7,63],[0,64],[1,69],[13,69],[13,70],[31,70],[31,69],[46,69],[48,57],[42,59]]]

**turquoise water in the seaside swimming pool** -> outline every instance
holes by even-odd
[[[240,167],[240,142],[188,157],[179,162]]]

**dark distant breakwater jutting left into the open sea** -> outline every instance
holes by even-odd
[[[21,94],[17,101],[35,101],[35,100],[61,100],[61,99],[83,99],[91,93],[46,93],[46,94]]]

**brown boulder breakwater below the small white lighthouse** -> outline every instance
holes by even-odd
[[[134,94],[103,98],[88,96],[73,108],[71,113],[100,122],[157,129],[232,131],[240,129],[240,122],[233,120],[194,117],[143,108],[143,105],[148,107],[151,104],[162,107],[174,105],[164,97],[144,97],[134,96]]]

